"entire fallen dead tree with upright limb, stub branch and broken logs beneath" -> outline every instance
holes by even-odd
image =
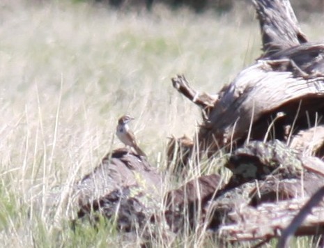
[[[308,42],[289,1],[254,6],[263,41],[254,65],[217,94],[196,92],[183,75],[172,79],[203,113],[194,146],[209,157],[233,150],[225,164],[233,176],[201,214],[225,240],[279,237],[323,186],[324,43]],[[296,235],[323,233],[324,208],[314,211]]]

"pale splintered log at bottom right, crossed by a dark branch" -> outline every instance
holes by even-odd
[[[279,237],[280,231],[288,226],[305,202],[303,199],[293,199],[263,204],[258,208],[237,209],[237,212],[231,212],[230,214],[233,224],[221,226],[219,233],[222,233],[221,235],[227,240],[233,241],[263,240]],[[323,233],[323,210],[323,207],[314,208],[295,235]]]

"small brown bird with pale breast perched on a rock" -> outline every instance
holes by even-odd
[[[135,136],[133,132],[130,130],[130,127],[128,126],[128,123],[130,121],[134,120],[134,118],[130,116],[121,116],[118,120],[118,125],[116,129],[116,135],[118,139],[125,144],[125,146],[130,146],[136,150],[137,154],[140,156],[145,156],[146,154],[144,153],[139,146],[137,146]]]

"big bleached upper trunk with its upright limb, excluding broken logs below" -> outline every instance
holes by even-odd
[[[199,142],[210,155],[246,139],[284,140],[287,132],[323,122],[324,43],[306,42],[289,1],[260,0],[255,6],[265,53],[208,107]],[[189,87],[184,77],[177,81]]]

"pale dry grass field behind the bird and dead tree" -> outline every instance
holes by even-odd
[[[73,233],[31,201],[82,178],[109,150],[118,117],[136,118],[141,148],[164,169],[171,134],[192,136],[199,109],[178,95],[184,73],[216,93],[259,55],[250,6],[222,17],[155,6],[121,13],[86,3],[0,3],[0,240],[5,247],[107,247],[114,228]],[[302,24],[311,39],[323,24]],[[157,158],[162,156],[161,162]],[[187,245],[193,241],[188,240]],[[180,245],[182,246],[182,245]]]

